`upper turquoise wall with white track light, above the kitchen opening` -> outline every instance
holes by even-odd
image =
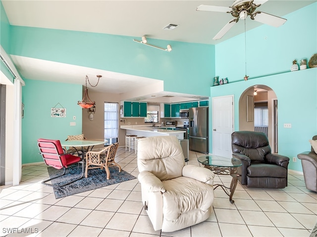
[[[215,73],[214,45],[148,39],[161,47],[171,44],[173,50],[166,52],[127,36],[11,28],[13,55],[159,79],[164,81],[165,91],[210,95]],[[198,83],[192,83],[193,80]]]

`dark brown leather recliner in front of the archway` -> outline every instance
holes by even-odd
[[[287,186],[289,158],[271,153],[263,132],[236,131],[231,134],[232,156],[242,161],[238,180],[251,188],[283,189]]]

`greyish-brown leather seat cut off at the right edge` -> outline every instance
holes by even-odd
[[[313,137],[313,140],[317,140],[317,135]],[[317,192],[317,154],[313,147],[310,152],[303,152],[297,157],[302,161],[306,188]]]

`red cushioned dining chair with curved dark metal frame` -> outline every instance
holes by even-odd
[[[54,167],[55,169],[63,169],[63,173],[61,175],[46,179],[42,182],[43,184],[46,184],[49,186],[54,186],[54,187],[62,187],[62,186],[65,186],[67,184],[73,183],[73,182],[81,179],[84,176],[83,158],[80,157],[79,153],[78,153],[78,156],[74,156],[74,155],[71,155],[69,153],[65,153],[60,145],[59,140],[49,140],[49,139],[40,138],[40,139],[38,139],[38,147],[40,149],[40,154],[42,155],[44,162],[47,165],[50,165],[50,166]],[[74,151],[72,151],[71,153],[74,153]],[[74,180],[71,180],[70,182],[67,182],[66,184],[62,184],[59,186],[46,183],[46,182],[51,181],[55,178],[63,176],[66,173],[66,168],[68,168],[71,164],[75,164],[75,163],[78,163],[78,168],[79,168],[80,163],[82,165],[81,177],[76,178]]]

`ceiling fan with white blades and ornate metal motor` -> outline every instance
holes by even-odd
[[[221,39],[230,29],[234,26],[239,19],[245,20],[248,16],[252,20],[279,27],[283,25],[287,20],[278,16],[274,16],[262,11],[256,11],[257,7],[261,6],[267,0],[235,0],[230,7],[227,6],[211,6],[211,5],[200,5],[197,7],[197,11],[216,11],[231,13],[234,19],[229,21],[212,40]]]

